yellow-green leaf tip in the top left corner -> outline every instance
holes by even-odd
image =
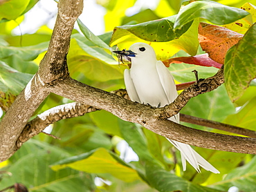
[[[26,10],[30,0],[10,0],[1,1],[0,4],[0,20],[15,20]]]

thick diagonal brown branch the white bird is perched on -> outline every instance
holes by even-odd
[[[217,77],[219,77],[219,73],[212,77],[212,81],[221,81]],[[205,81],[210,80],[205,79]],[[213,84],[216,84],[215,87],[217,88],[218,84]],[[188,92],[191,93],[190,96],[198,95],[199,91],[196,94],[192,94],[192,88],[188,88]],[[200,90],[201,88],[197,89]],[[181,124],[161,119],[166,108],[152,108],[151,106],[134,103],[117,95],[105,92],[104,90],[87,86],[71,78],[64,79],[63,81],[55,81],[53,86],[49,86],[49,90],[62,95],[62,97],[73,99],[75,102],[89,104],[95,108],[102,108],[120,117],[120,119],[141,124],[150,131],[158,135],[163,135],[171,140],[221,151],[256,154],[256,139],[254,138],[208,133],[206,131],[188,128]],[[203,93],[208,91],[210,91],[209,88],[207,90],[203,88]],[[174,106],[174,104],[171,105]]]

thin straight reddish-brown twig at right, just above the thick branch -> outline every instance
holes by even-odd
[[[201,125],[201,126],[207,126],[210,128],[216,128],[219,129],[221,131],[227,131],[230,133],[237,133],[239,135],[246,135],[248,137],[253,137],[256,138],[256,132],[255,131],[251,131],[248,130],[246,128],[241,128],[238,126],[232,126],[229,124],[223,124],[220,122],[214,122],[208,119],[202,119],[199,117],[193,117],[190,115],[185,115],[185,114],[180,114],[181,117],[181,121],[182,122],[187,122],[187,123],[191,123],[191,124],[197,124],[197,125]]]

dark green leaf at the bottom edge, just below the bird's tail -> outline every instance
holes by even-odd
[[[199,186],[183,180],[181,177],[176,176],[170,171],[165,171],[153,164],[146,164],[146,175],[149,184],[151,184],[155,189],[161,192],[169,191],[196,191],[196,192],[214,192],[217,190],[206,188],[204,186]]]

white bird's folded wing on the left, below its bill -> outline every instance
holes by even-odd
[[[126,90],[127,90],[129,97],[131,98],[131,101],[140,103],[140,98],[138,97],[138,93],[134,86],[134,82],[131,79],[129,69],[125,69],[124,78],[125,78]]]

